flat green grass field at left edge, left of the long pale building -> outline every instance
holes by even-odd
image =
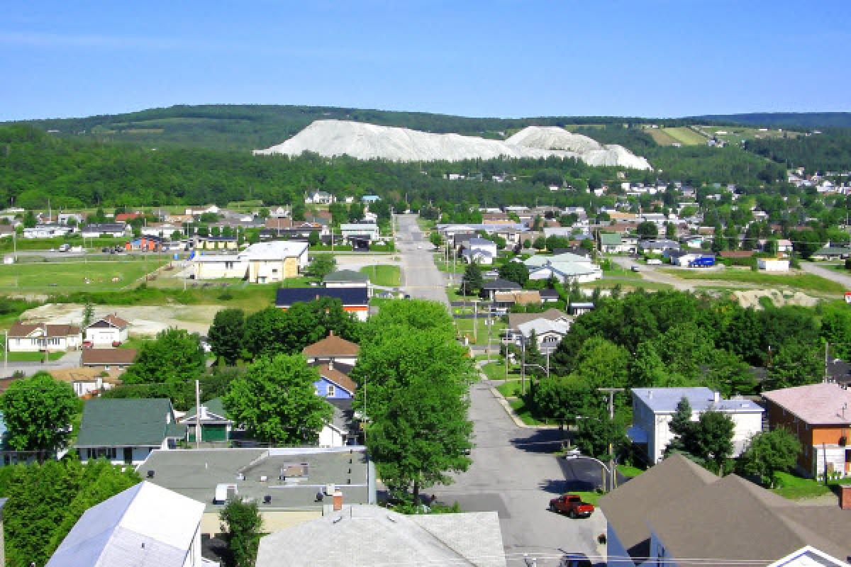
[[[166,264],[164,260],[0,265],[3,292],[116,292]],[[113,281],[115,280],[115,281]]]

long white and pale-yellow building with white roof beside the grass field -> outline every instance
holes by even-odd
[[[271,283],[293,278],[307,267],[307,242],[271,241],[252,244],[237,254],[196,254],[196,280],[242,278]]]

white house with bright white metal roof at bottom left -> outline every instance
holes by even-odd
[[[141,482],[90,507],[47,567],[214,567],[201,556],[204,504]]]

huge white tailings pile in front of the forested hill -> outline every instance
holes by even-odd
[[[592,166],[621,166],[651,169],[641,156],[620,145],[602,145],[563,128],[529,126],[502,140],[462,136],[456,133],[427,133],[408,128],[376,126],[345,120],[317,120],[283,144],[256,155],[300,156],[312,151],[320,156],[352,156],[360,160],[393,162],[458,162],[505,157],[575,157]]]

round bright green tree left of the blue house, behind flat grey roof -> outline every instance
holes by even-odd
[[[257,360],[231,382],[223,402],[234,422],[264,443],[316,442],[334,411],[316,394],[319,373],[301,354]]]

